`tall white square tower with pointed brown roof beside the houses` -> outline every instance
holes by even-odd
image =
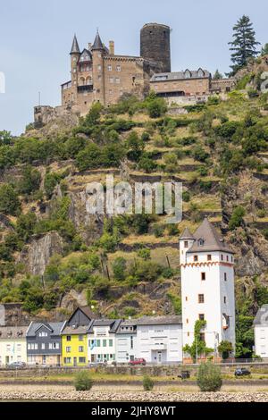
[[[183,346],[192,344],[195,323],[204,319],[201,337],[214,356],[222,340],[235,349],[233,265],[233,252],[206,218],[193,235],[188,230],[181,235]]]

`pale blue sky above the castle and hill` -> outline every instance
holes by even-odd
[[[0,130],[21,134],[33,122],[38,92],[41,105],[60,105],[74,33],[80,49],[98,28],[106,45],[114,40],[115,54],[139,55],[139,29],[164,23],[172,28],[172,71],[226,72],[235,22],[247,14],[264,45],[267,12],[267,0],[0,0]]]

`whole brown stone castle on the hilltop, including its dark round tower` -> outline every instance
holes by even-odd
[[[147,23],[140,30],[140,54],[116,55],[114,42],[105,46],[100,34],[94,43],[80,50],[74,36],[71,45],[71,80],[64,82],[62,105],[35,107],[35,125],[41,127],[63,115],[85,115],[90,106],[100,102],[116,104],[126,95],[142,99],[149,90],[172,104],[205,102],[214,93],[229,91],[232,79],[212,80],[211,73],[202,68],[195,71],[171,71],[171,29],[159,23]]]

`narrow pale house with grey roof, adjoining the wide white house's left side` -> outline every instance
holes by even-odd
[[[137,320],[122,321],[116,332],[116,362],[128,363],[137,357]]]

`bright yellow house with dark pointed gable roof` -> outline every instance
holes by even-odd
[[[88,307],[78,307],[63,326],[62,364],[63,366],[88,365],[88,329],[91,311]]]

